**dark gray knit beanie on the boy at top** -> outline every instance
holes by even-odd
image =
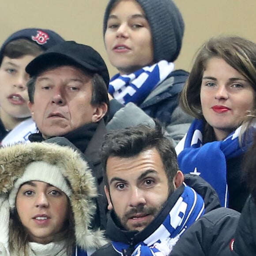
[[[177,6],[172,0],[136,0],[151,28],[154,46],[154,62],[177,59],[182,45],[184,21]],[[117,0],[110,0],[103,20],[103,35],[107,29],[109,13]]]

